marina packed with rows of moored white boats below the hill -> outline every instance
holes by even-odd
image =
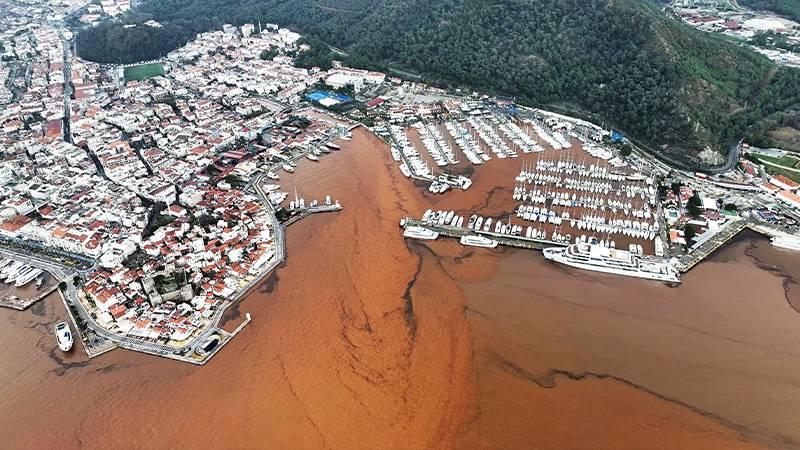
[[[506,216],[476,212],[469,217],[456,211],[428,210],[421,218],[405,217],[401,221],[406,238],[451,237],[462,245],[484,248],[552,247],[545,251],[550,260],[672,283],[680,282],[680,274],[745,228],[775,236],[775,245],[782,248],[798,248],[800,240],[791,232],[787,234],[752,219],[722,216],[714,205],[706,210],[712,220],[693,219],[691,216],[697,212],[688,214],[687,204],[696,200],[690,199],[692,195],[697,197],[696,193],[682,187],[681,198],[675,202],[676,197],[670,197],[675,183],[665,180],[658,166],[639,166],[624,160],[603,142],[602,131],[597,128],[572,123],[563,116],[514,117],[475,112],[472,108],[468,117],[454,114],[441,122],[411,119],[410,128],[392,126],[393,135],[401,143],[392,145],[392,157],[395,161],[411,158],[408,164],[401,164],[401,170],[405,173],[404,169],[413,168],[409,170],[413,178],[416,169],[422,168],[426,174],[423,179],[431,182],[428,191],[437,194],[449,192],[450,186],[440,183],[443,176],[431,181],[429,165],[413,143],[415,133],[419,133],[439,167],[455,163],[456,170],[464,169],[460,155],[448,159],[447,151],[455,150],[476,170],[485,170],[477,166],[486,164],[520,166],[513,180],[511,203],[501,202],[502,208],[507,208]],[[446,133],[441,133],[441,128]],[[401,152],[400,148],[405,150]],[[708,201],[703,206],[706,205]],[[683,210],[687,229],[702,227],[701,234],[693,237],[685,249],[676,246],[681,242],[682,231],[675,228],[674,216],[665,216],[665,209],[670,214]],[[583,255],[589,259],[581,260]],[[618,265],[617,259],[627,261],[624,264],[631,270],[611,269]]]

